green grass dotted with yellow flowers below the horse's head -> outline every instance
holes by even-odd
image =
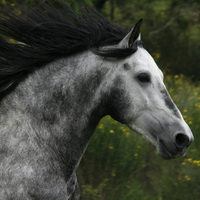
[[[83,200],[200,200],[200,87],[183,76],[165,84],[195,136],[187,155],[163,160],[126,126],[105,117],[78,169]]]

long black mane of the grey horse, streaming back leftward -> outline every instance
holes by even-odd
[[[77,14],[69,6],[64,11],[45,5],[27,7],[22,14],[1,9],[0,14],[0,94],[9,91],[27,74],[59,57],[91,49],[109,57],[126,57],[134,49],[100,50],[117,44],[128,29],[105,19],[87,7]]]

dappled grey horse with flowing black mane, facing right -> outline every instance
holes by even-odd
[[[141,134],[164,159],[193,141],[140,19],[92,8],[28,7],[0,17],[0,199],[78,200],[76,169],[101,118]]]

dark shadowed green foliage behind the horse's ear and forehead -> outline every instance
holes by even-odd
[[[160,55],[157,62],[162,70],[199,80],[199,1],[112,1],[107,1],[102,12],[115,22],[131,27],[144,18],[144,44],[151,54]]]

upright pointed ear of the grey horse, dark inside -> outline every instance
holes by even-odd
[[[119,43],[120,48],[131,48],[135,41],[140,40],[140,26],[143,19],[140,19],[131,29],[131,31]]]

